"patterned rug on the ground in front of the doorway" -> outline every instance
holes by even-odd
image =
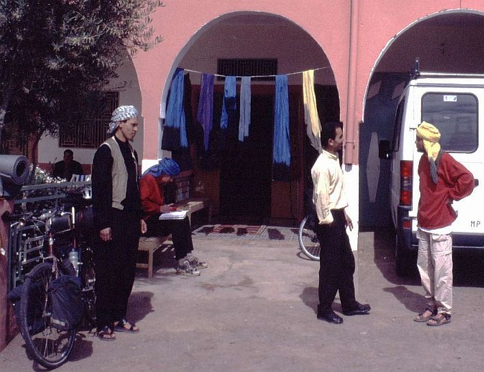
[[[192,235],[201,239],[287,240],[297,241],[298,228],[266,225],[205,225]]]

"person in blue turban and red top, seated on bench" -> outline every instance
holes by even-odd
[[[173,159],[164,158],[142,174],[140,181],[141,202],[148,231],[146,236],[166,236],[171,233],[177,259],[177,274],[199,276],[199,269],[208,267],[193,254],[192,228],[188,215],[179,220],[160,220],[160,214],[172,210],[165,204],[164,186],[173,183],[180,167]]]

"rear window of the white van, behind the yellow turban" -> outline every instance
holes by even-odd
[[[449,152],[477,150],[477,98],[472,94],[427,93],[422,97],[422,120],[440,131],[440,146]]]

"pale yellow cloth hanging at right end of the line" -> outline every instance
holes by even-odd
[[[321,153],[321,123],[316,106],[316,94],[314,94],[314,70],[303,72],[303,98],[304,98],[304,121],[306,133],[311,145]]]

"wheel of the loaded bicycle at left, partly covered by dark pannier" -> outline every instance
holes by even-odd
[[[49,369],[66,362],[76,333],[75,329],[61,331],[51,326],[49,286],[53,278],[52,263],[34,267],[23,284],[20,305],[20,328],[27,353]]]

